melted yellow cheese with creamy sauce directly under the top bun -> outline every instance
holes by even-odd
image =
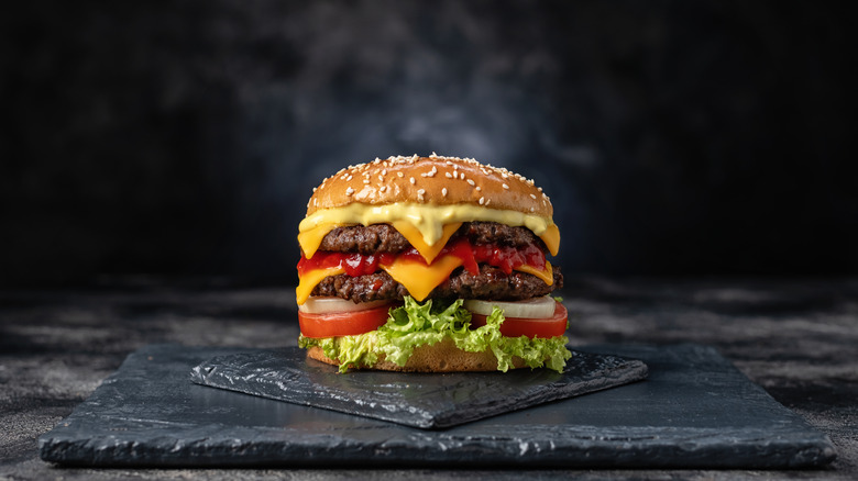
[[[470,204],[394,203],[367,205],[353,203],[343,208],[324,209],[314,212],[312,215],[301,221],[298,226],[298,243],[305,257],[309,259],[319,249],[322,238],[336,227],[389,223],[417,248],[427,261],[431,261],[430,259],[438,255],[450,235],[455,232],[449,226],[469,221],[525,226],[546,243],[552,256],[557,256],[560,248],[560,230],[550,217]]]

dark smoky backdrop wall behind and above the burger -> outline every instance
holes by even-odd
[[[473,156],[566,272],[858,271],[850,2],[19,2],[0,284],[293,281],[310,189]]]

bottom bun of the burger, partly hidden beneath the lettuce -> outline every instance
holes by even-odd
[[[340,361],[324,355],[319,346],[312,346],[307,350],[307,357],[329,365],[340,366]],[[525,361],[513,357],[513,368],[524,368]],[[469,372],[469,371],[496,371],[497,358],[491,349],[481,353],[468,353],[455,347],[453,340],[444,338],[440,343],[424,345],[414,349],[405,366],[398,366],[384,359],[384,354],[378,355],[378,361],[373,366],[352,366],[355,369],[375,369],[381,371],[400,372]]]

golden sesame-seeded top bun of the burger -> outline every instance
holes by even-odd
[[[473,204],[553,215],[551,201],[532,180],[474,159],[389,157],[350,166],[324,179],[307,204],[307,215],[352,203]]]

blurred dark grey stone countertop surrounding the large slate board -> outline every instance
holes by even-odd
[[[827,434],[822,471],[530,471],[553,479],[858,478],[858,279],[568,278],[573,344],[716,347],[776,400]],[[276,347],[295,343],[293,290],[222,280],[108,280],[86,289],[0,291],[0,479],[349,479],[353,470],[62,469],[36,438],[152,343]],[[378,470],[361,477],[449,479],[520,471]]]

